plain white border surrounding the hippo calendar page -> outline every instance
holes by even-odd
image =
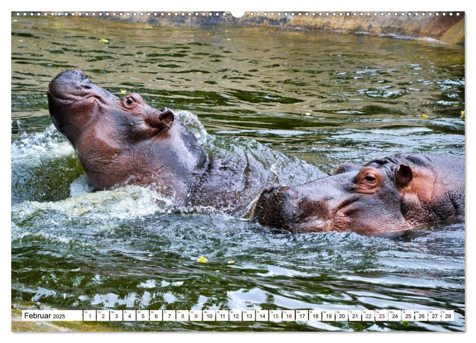
[[[161,10],[208,10],[208,9],[213,9],[213,10],[218,10],[218,11],[230,11],[230,10],[298,10],[298,9],[304,9],[304,10],[414,10],[414,11],[421,11],[422,9],[429,9],[429,10],[440,10],[440,9],[451,9],[451,10],[464,10],[466,13],[465,15],[467,16],[468,20],[465,22],[466,25],[466,32],[476,32],[475,24],[474,24],[474,18],[473,14],[475,13],[474,11],[468,11],[469,5],[465,1],[442,1],[442,0],[435,0],[432,1],[431,3],[427,3],[425,5],[422,5],[421,2],[418,1],[410,1],[410,0],[400,0],[397,3],[395,2],[382,2],[382,1],[359,1],[356,3],[356,1],[350,1],[350,0],[342,0],[339,1],[338,3],[336,2],[309,2],[305,0],[294,0],[292,2],[290,1],[271,1],[267,0],[267,2],[263,1],[255,1],[255,0],[240,0],[240,1],[230,1],[230,2],[225,2],[225,1],[210,1],[207,0],[206,3],[204,3],[205,0],[200,1],[200,5],[197,4],[196,1],[192,0],[183,0],[183,1],[175,1],[175,2],[153,2],[153,1],[135,1],[133,4],[127,4],[125,5],[127,8],[137,8],[138,10],[140,9],[155,9],[156,7],[160,7]],[[78,11],[78,10],[93,10],[93,9],[104,9],[104,8],[115,8],[115,7],[121,7],[123,8],[124,5],[121,3],[118,3],[117,1],[111,1],[111,0],[106,0],[106,1],[101,1],[100,6],[98,5],[97,1],[92,1],[92,0],[83,0],[81,3],[72,3],[72,2],[64,2],[64,1],[58,1],[56,2],[49,1],[48,4],[43,4],[38,1],[22,1],[22,3],[12,3],[8,2],[7,7],[11,6],[10,9],[4,9],[4,12],[7,12],[5,15],[10,16],[10,12],[13,10],[42,10],[42,9],[47,9],[47,10],[65,10],[65,11]],[[75,6],[76,5],[76,6]],[[17,7],[14,7],[17,6]],[[19,8],[18,6],[22,7]],[[101,7],[101,8],[99,8]],[[310,8],[312,7],[312,9]],[[397,8],[395,8],[397,7]],[[449,8],[451,7],[451,8]],[[1,34],[3,35],[3,42],[5,42],[3,50],[4,52],[2,53],[2,64],[1,64],[1,80],[3,81],[3,87],[5,89],[8,89],[10,87],[10,68],[11,68],[11,63],[10,63],[10,58],[11,58],[11,45],[9,44],[10,42],[10,20],[3,19],[3,21],[0,21],[0,25],[2,25],[1,29]],[[473,27],[473,28],[471,28]],[[474,48],[476,42],[474,41],[474,35],[466,35],[465,37],[466,40],[466,56],[465,60],[469,61],[470,58],[474,60]],[[6,47],[5,47],[6,45]],[[471,50],[470,50],[471,49]],[[476,79],[476,74],[474,72],[475,67],[472,67],[470,63],[466,64],[466,73],[467,75],[471,75],[470,80],[471,82],[466,85],[466,92],[468,92],[468,89],[473,92],[474,86],[473,80]],[[8,85],[6,84],[8,82]],[[2,87],[2,89],[3,89]],[[470,93],[468,93],[470,94]],[[7,96],[7,99],[9,100],[11,98],[11,94]],[[476,108],[474,106],[474,100],[472,97],[467,97],[466,98],[466,107],[470,107],[471,109]],[[8,101],[10,103],[10,101]],[[11,103],[9,104],[11,106]],[[11,113],[11,108],[10,108],[10,113]],[[471,113],[471,111],[469,112]],[[476,113],[476,111],[474,111]],[[8,116],[5,116],[8,117]],[[8,118],[9,120],[9,118]],[[6,119],[5,119],[6,121]],[[468,120],[466,122],[466,127],[467,127],[467,132],[474,132],[475,129],[475,121],[471,119],[470,116],[468,116]],[[9,125],[5,125],[3,123],[2,128],[4,129],[3,134],[1,137],[4,138],[2,141],[2,148],[0,149],[1,153],[1,161],[7,161],[7,164],[10,163],[10,142],[9,142],[9,137],[10,137],[10,127]],[[474,135],[472,134],[467,134],[466,137],[466,151],[469,153],[470,151],[475,151],[475,141],[473,138]],[[8,141],[8,142],[7,142]],[[467,161],[471,161],[472,158],[470,158],[470,155],[467,155]],[[470,164],[468,164],[468,169],[470,167]],[[11,172],[11,168],[10,168]],[[10,177],[2,174],[2,180],[4,182],[10,182]],[[476,194],[476,192],[473,192],[476,190],[475,182],[472,181],[471,178],[467,178],[466,182],[466,196],[467,196],[467,202],[471,203],[471,205],[475,204],[475,196],[472,196],[472,194]],[[8,201],[10,201],[10,187],[5,188],[5,192],[9,196]],[[469,208],[469,207],[468,207]],[[2,222],[8,222],[11,219],[11,214],[10,214],[10,208],[8,206],[3,206],[1,209],[1,220]],[[472,223],[475,222],[475,214],[473,214],[471,211],[468,211],[467,216],[466,216],[466,227],[473,227]],[[3,282],[1,287],[2,287],[2,294],[11,294],[11,273],[8,272],[8,270],[11,268],[11,235],[10,235],[10,228],[4,228],[4,235],[7,235],[8,237],[4,237],[2,240],[3,242],[3,249],[2,249],[2,254],[3,254],[3,259],[2,259],[2,270],[4,271],[4,277],[6,277],[7,281]],[[474,242],[474,235],[475,233],[472,232],[472,230],[467,230],[466,231],[466,244],[469,244],[469,242]],[[470,240],[471,237],[471,240]],[[475,261],[475,252],[474,249],[467,249],[466,250],[466,266],[474,266]],[[466,270],[466,277],[465,277],[465,283],[466,283],[466,289],[469,290],[468,285],[474,285],[475,278],[474,278],[474,270],[467,269]],[[8,282],[9,281],[9,282]],[[3,308],[6,309],[8,308],[11,309],[11,299],[10,302],[8,302],[9,297],[8,296],[3,296],[1,297],[1,302],[3,304]],[[470,306],[471,304],[471,306]],[[474,295],[472,292],[467,292],[466,293],[466,301],[465,301],[465,307],[466,309],[473,308],[474,304]],[[22,342],[28,342],[31,343],[36,339],[36,334],[37,333],[28,333],[28,334],[22,334],[22,333],[12,333],[11,332],[11,317],[7,316],[7,311],[1,311],[1,320],[0,323],[2,324],[2,332],[6,333],[4,337],[10,338],[11,341],[14,341],[15,343],[22,343]],[[467,317],[465,316],[465,323],[466,323]],[[472,327],[466,326],[466,332],[473,332],[475,329]],[[217,338],[218,333],[211,333],[211,332],[200,332],[199,335],[194,335],[193,340],[194,343],[201,343],[201,342],[206,342],[209,343],[211,340],[214,340]],[[333,333],[318,333],[319,335],[331,335]],[[411,341],[417,341],[417,340],[422,340],[424,339],[422,335],[424,333],[405,333],[404,335],[398,335],[397,333],[394,332],[388,332],[385,333],[384,335],[379,335],[379,334],[374,334],[374,333],[358,333],[362,339],[364,339],[367,342],[374,342],[378,341],[381,342],[382,340],[385,340],[385,343],[393,343],[393,342],[398,342],[401,343],[401,340],[411,340]],[[67,335],[67,336],[66,336]],[[132,335],[132,336],[131,336]],[[117,333],[117,332],[107,332],[107,339],[114,339],[116,342],[121,342],[125,340],[131,340],[134,339],[133,336],[135,335],[141,335],[142,338],[147,337],[147,338],[152,338],[154,333],[127,333],[127,336],[124,336],[122,332]],[[146,335],[146,336],[144,336]],[[170,340],[175,340],[176,339],[176,334],[175,333],[170,333],[170,332],[162,332],[160,333],[160,339],[170,339]],[[174,336],[172,336],[174,335]],[[225,335],[225,334],[223,334]],[[258,335],[253,336],[253,338],[256,338],[256,341],[262,341],[268,338],[276,338],[276,336],[271,336],[272,334],[267,334],[267,333],[259,333]],[[311,333],[303,332],[303,333],[287,333],[286,334],[286,340],[293,340],[294,337],[297,337],[299,339],[310,339]],[[58,337],[60,336],[60,337]],[[75,342],[82,342],[84,339],[87,340],[101,340],[104,339],[104,333],[89,333],[87,336],[81,335],[81,333],[68,333],[68,334],[63,334],[63,335],[57,335],[56,333],[41,333],[41,337],[44,340],[48,340],[48,342],[62,342],[65,340],[68,340],[68,343],[75,343]],[[323,336],[319,336],[319,338],[322,338]],[[353,338],[354,336],[352,336]],[[469,337],[470,335],[458,335],[458,343],[460,342],[469,342]],[[243,340],[243,338],[249,340],[251,339],[250,336],[244,337],[242,334],[230,334],[227,335],[226,337],[223,336],[222,338],[225,338],[227,341],[230,341],[230,343],[238,341],[238,340]],[[313,337],[314,338],[314,337]],[[351,338],[351,339],[352,339]],[[333,338],[335,339],[335,337]],[[430,339],[433,342],[447,342],[448,340],[453,339],[453,336],[449,335],[432,335],[430,336]],[[440,341],[441,340],[441,341]]]

